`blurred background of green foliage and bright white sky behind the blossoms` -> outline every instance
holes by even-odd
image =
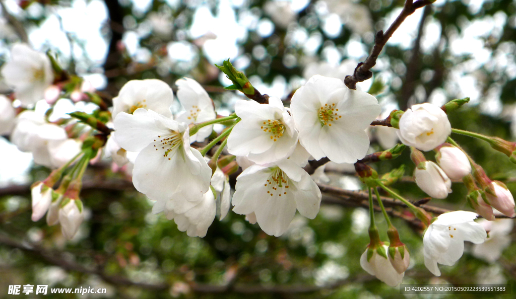
[[[69,72],[108,97],[131,79],[159,78],[174,87],[176,79],[189,76],[205,87],[221,115],[231,113],[235,101],[244,97],[222,89],[230,83],[214,63],[231,58],[258,90],[288,103],[293,91],[314,74],[350,75],[372,48],[374,32],[388,28],[403,5],[392,0],[0,3],[0,64],[9,59],[13,43],[29,42],[56,54]],[[468,96],[470,104],[449,115],[453,127],[514,141],[515,53],[516,1],[438,0],[407,18],[384,47],[373,78],[359,88],[374,93],[385,113]],[[10,92],[1,79],[0,92]],[[36,107],[47,108],[44,102]],[[88,109],[84,103],[60,99],[54,114]],[[389,147],[381,132],[371,129],[370,136],[371,152]],[[516,168],[505,155],[480,141],[455,139],[516,194]],[[338,198],[325,196],[315,220],[297,215],[280,238],[267,236],[234,213],[214,221],[205,238],[189,238],[164,215],[151,214],[153,202],[104,160],[88,169],[81,195],[87,218],[66,242],[58,226],[30,220],[29,185],[49,174],[31,160],[31,154],[0,137],[0,297],[8,297],[9,285],[25,284],[107,288],[107,294],[96,297],[109,298],[402,296],[398,288],[361,269],[368,212]],[[407,178],[393,187],[413,200],[426,196],[410,181],[414,167],[408,153],[375,167],[385,173],[402,164]],[[327,169],[327,175],[330,185],[363,187],[352,168]],[[453,190],[446,200],[431,204],[470,210],[464,186],[454,184]],[[377,222],[387,240],[380,214]],[[473,257],[471,244],[466,244],[464,256],[453,267],[442,266],[443,275],[436,278],[423,264],[421,231],[400,219],[395,225],[411,253],[404,283],[516,282],[514,244],[491,263]],[[516,233],[509,236],[514,240]],[[511,295],[498,297],[504,296]]]

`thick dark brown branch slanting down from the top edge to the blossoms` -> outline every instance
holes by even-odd
[[[387,41],[394,34],[394,31],[398,29],[398,27],[405,21],[407,16],[414,13],[414,11],[418,8],[431,4],[431,0],[417,0],[413,2],[413,0],[406,0],[405,5],[398,17],[391,26],[383,32],[382,30],[376,32],[375,35],[375,45],[373,46],[373,50],[371,54],[365,59],[364,62],[360,62],[357,65],[357,68],[354,70],[353,75],[346,76],[344,79],[344,83],[350,89],[357,89],[357,82],[362,82],[373,76],[373,72],[370,70],[375,66],[376,59],[378,55],[382,52],[383,47],[387,43]]]

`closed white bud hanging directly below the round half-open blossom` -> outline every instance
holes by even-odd
[[[451,193],[451,180],[434,162],[425,161],[417,165],[414,178],[418,187],[433,198],[446,198]]]

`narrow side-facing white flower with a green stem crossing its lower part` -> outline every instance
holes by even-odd
[[[178,99],[185,111],[175,115],[175,120],[187,124],[197,124],[214,120],[217,117],[212,99],[202,86],[193,79],[182,78],[175,81],[178,86]],[[190,142],[202,142],[212,134],[213,125],[199,129],[190,136]]]

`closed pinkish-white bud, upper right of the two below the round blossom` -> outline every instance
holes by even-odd
[[[436,155],[437,163],[451,179],[462,179],[471,173],[471,164],[466,154],[455,146],[443,146]]]

